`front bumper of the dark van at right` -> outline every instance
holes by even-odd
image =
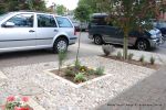
[[[154,40],[148,40],[149,41],[149,44],[151,44],[151,47],[157,47],[162,44],[164,44],[164,40],[163,37],[158,37],[158,38],[154,38]]]

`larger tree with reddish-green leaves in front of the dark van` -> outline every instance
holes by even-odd
[[[156,0],[98,0],[103,12],[107,12],[108,22],[120,26],[124,33],[124,59],[127,58],[128,34],[132,30],[143,31],[149,24],[143,22],[152,18],[158,19],[159,11],[166,8]]]

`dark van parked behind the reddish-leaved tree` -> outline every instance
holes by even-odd
[[[112,43],[123,45],[123,31],[107,24],[105,13],[95,13],[92,15],[92,21],[89,24],[89,38],[94,40],[95,44]],[[128,45],[135,46],[137,50],[147,51],[156,47],[163,43],[162,33],[158,29],[151,31],[131,31],[128,37]]]

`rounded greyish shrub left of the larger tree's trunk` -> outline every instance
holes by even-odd
[[[115,52],[115,47],[113,45],[102,45],[102,50],[103,50],[105,56],[108,56],[113,52]]]

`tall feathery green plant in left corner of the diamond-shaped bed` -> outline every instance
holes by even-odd
[[[62,67],[65,58],[66,58],[66,52],[60,51],[59,52],[59,73],[61,72],[61,67]]]

